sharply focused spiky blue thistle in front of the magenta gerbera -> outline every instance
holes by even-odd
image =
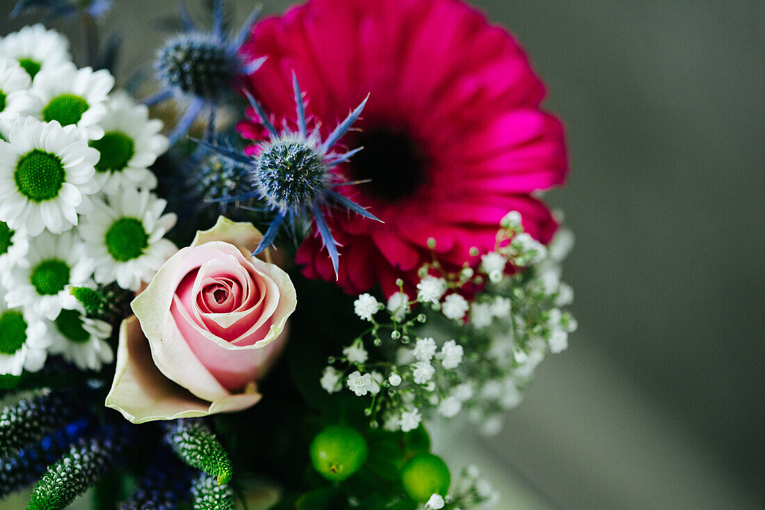
[[[260,117],[260,122],[270,135],[268,141],[262,142],[259,147],[259,154],[254,158],[237,154],[217,145],[210,145],[207,142],[201,143],[243,165],[249,165],[255,191],[229,198],[228,201],[259,198],[265,202],[265,208],[275,214],[263,240],[255,251],[256,254],[273,244],[276,234],[285,221],[288,221],[291,230],[294,230],[295,220],[312,218],[316,224],[316,230],[321,236],[321,242],[327,248],[327,253],[329,253],[337,275],[337,241],[332,236],[327,221],[324,219],[324,208],[340,207],[379,221],[365,208],[337,191],[340,186],[352,185],[356,182],[344,181],[337,172],[332,172],[336,165],[346,162],[362,149],[353,149],[349,152],[334,152],[333,150],[334,145],[350,130],[353,123],[361,115],[366,105],[366,99],[349,113],[346,119],[330,133],[330,136],[327,136],[327,139],[322,140],[318,129],[308,132],[305,100],[295,74],[292,74],[292,87],[295,92],[298,117],[297,131],[285,128],[279,132],[260,104],[252,96],[247,95],[252,108]]]

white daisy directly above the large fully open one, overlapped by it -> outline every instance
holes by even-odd
[[[42,70],[32,81],[35,103],[28,115],[61,126],[77,126],[89,140],[103,136],[99,122],[106,116],[106,99],[114,87],[108,70],[77,69],[63,64]]]

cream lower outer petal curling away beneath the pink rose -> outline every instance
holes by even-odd
[[[106,396],[106,407],[119,410],[132,423],[200,417],[251,407],[261,395],[254,387],[248,389],[251,391],[229,394],[213,402],[195,397],[154,365],[148,339],[133,315],[119,329],[116,374]]]

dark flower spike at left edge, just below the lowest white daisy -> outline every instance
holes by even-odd
[[[65,427],[82,412],[67,391],[51,391],[23,399],[0,411],[0,458],[14,456],[24,446]]]

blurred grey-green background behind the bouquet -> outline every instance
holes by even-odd
[[[14,3],[0,34],[30,21],[7,21]],[[237,20],[255,5],[231,3]],[[441,438],[449,460],[480,456],[500,508],[765,508],[765,3],[473,3],[568,128],[570,181],[548,200],[577,235],[580,328],[500,436]],[[116,0],[123,80],[175,8]]]

